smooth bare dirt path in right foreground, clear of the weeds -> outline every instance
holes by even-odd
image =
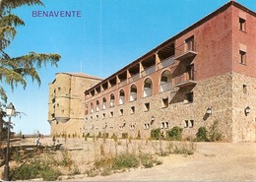
[[[171,154],[149,169],[132,169],[78,181],[255,181],[256,143],[198,143],[193,155]]]

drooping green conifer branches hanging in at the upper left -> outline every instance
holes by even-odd
[[[11,87],[12,91],[22,85],[24,89],[27,87],[27,78],[32,78],[38,86],[40,86],[40,78],[37,70],[41,66],[51,64],[57,67],[57,62],[61,56],[59,54],[45,54],[29,52],[28,55],[20,57],[11,57],[5,49],[15,38],[17,28],[25,26],[25,23],[12,10],[24,5],[40,5],[44,6],[40,0],[0,0],[0,108],[3,103],[7,102],[7,94],[3,85]],[[0,119],[1,125],[1,119]]]

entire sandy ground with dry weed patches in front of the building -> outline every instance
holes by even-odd
[[[44,148],[27,154],[13,152],[12,179],[39,178],[65,181],[256,179],[256,164],[253,162],[256,159],[256,143],[194,143],[104,138],[86,138],[86,140],[58,138],[57,140],[57,144],[63,144],[61,150]],[[21,141],[23,144],[33,142],[34,139]],[[52,144],[50,138],[44,138],[41,142],[43,146]],[[3,171],[3,166],[1,170]]]

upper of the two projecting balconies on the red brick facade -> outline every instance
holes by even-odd
[[[197,55],[196,42],[188,41],[176,48],[176,60],[184,61]]]

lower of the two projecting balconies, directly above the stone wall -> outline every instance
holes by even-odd
[[[185,72],[183,74],[177,75],[174,79],[174,87],[177,88],[185,88],[189,86],[194,86],[197,84],[196,81],[194,81],[194,72]]]

